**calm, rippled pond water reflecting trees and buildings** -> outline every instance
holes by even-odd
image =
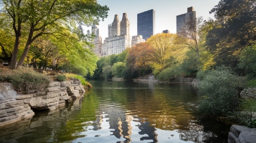
[[[83,99],[0,129],[0,142],[227,142],[230,126],[194,115],[190,84],[90,83]]]

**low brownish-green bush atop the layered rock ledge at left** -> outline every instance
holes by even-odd
[[[20,93],[40,91],[49,85],[47,76],[24,67],[16,70],[0,71],[0,79],[2,82],[12,83]]]

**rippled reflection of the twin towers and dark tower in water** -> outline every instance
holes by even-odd
[[[111,134],[116,138],[125,138],[125,140],[118,141],[117,143],[129,143],[132,142],[133,138],[132,135],[132,122],[137,122],[136,130],[138,133],[134,133],[134,135],[144,135],[143,137],[140,136],[140,140],[151,140],[151,142],[158,142],[157,140],[157,133],[155,133],[156,129],[153,126],[150,126],[149,122],[145,122],[146,119],[136,118],[133,120],[133,116],[125,113],[125,110],[118,109],[120,107],[114,105],[101,105],[101,111],[99,113],[103,113],[102,115],[98,115],[97,120],[94,122],[95,129],[103,129],[101,127],[102,122],[108,122],[109,129]],[[106,126],[105,126],[106,128]],[[111,130],[113,129],[113,130]],[[136,138],[138,139],[138,138]],[[150,142],[150,141],[149,141]]]

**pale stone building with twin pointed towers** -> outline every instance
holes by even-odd
[[[129,20],[127,14],[123,13],[122,21],[119,22],[116,14],[112,25],[109,25],[109,36],[104,40],[102,55],[120,54],[127,47],[131,47]]]

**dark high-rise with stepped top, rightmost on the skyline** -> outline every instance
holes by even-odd
[[[185,28],[186,23],[188,23],[188,20],[191,17],[196,20],[196,11],[194,11],[194,8],[192,6],[187,8],[187,12],[185,14],[176,16],[176,32],[177,32],[177,34],[179,34]]]

